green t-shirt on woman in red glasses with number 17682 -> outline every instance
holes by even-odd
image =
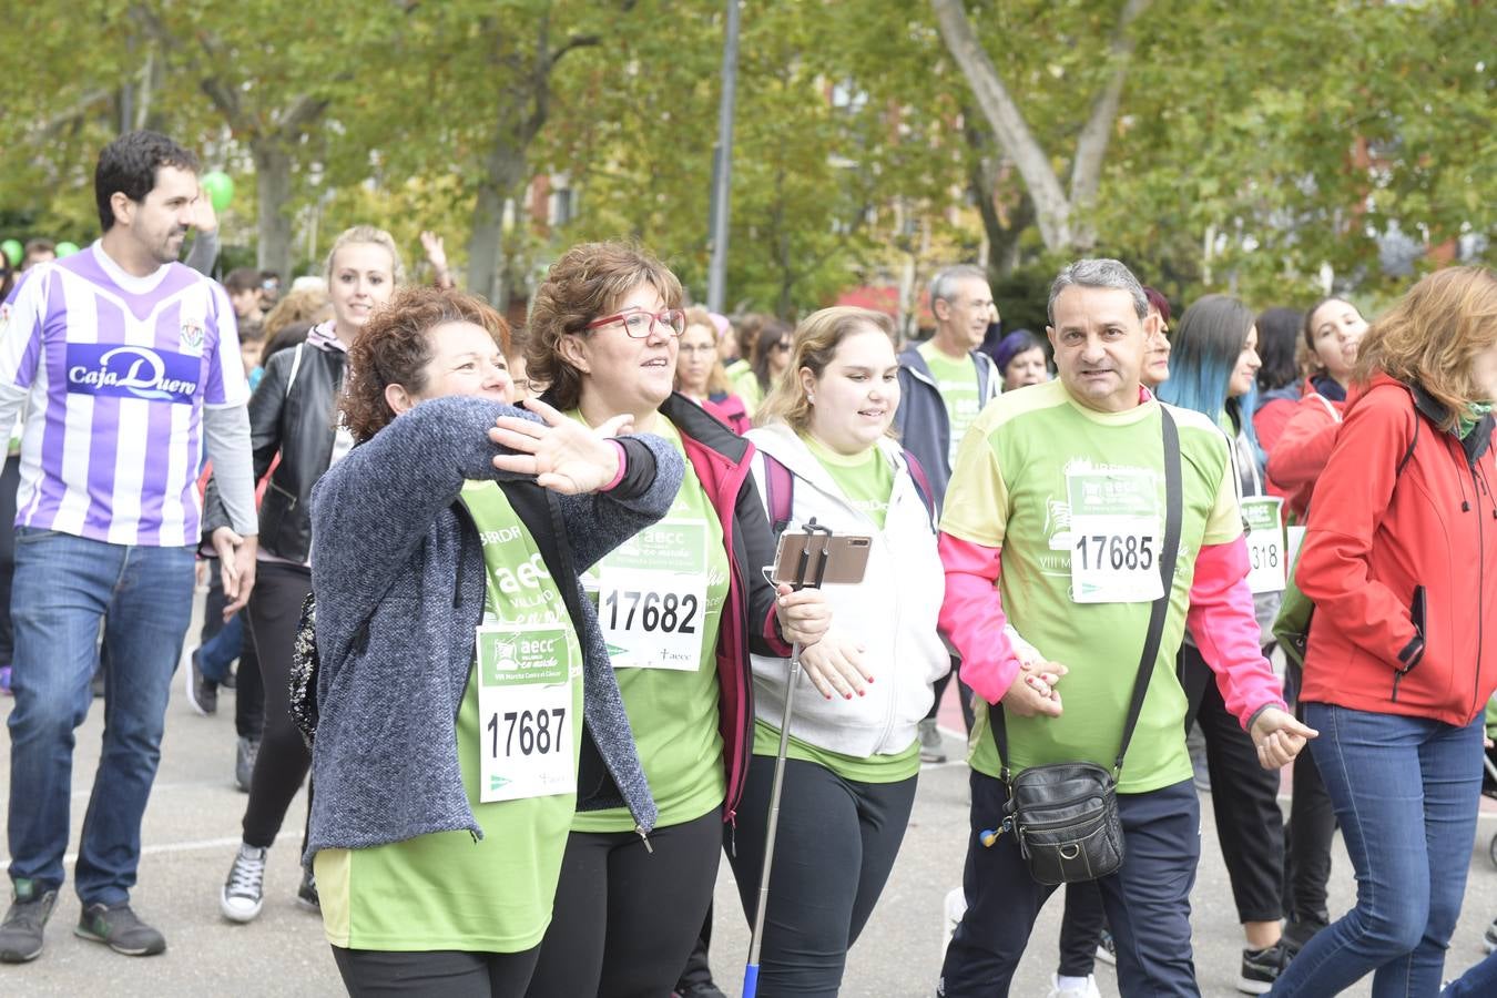
[[[684,453],[680,432],[663,416],[653,432]],[[678,576],[677,584],[660,585],[659,578],[639,575],[651,569],[689,572]],[[636,588],[611,588],[605,570],[636,581],[630,582]],[[624,697],[639,765],[660,809],[657,827],[702,817],[719,806],[728,792],[723,738],[717,730],[717,631],[728,600],[728,572],[723,527],[690,461],[686,462],[681,491],[671,512],[588,570],[590,584],[596,581],[600,587],[599,622],[614,657],[614,675]],[[674,618],[663,609],[671,606],[672,590],[677,596]],[[651,594],[666,596],[651,603]],[[702,597],[701,613],[695,612],[698,597]],[[696,652],[690,667],[620,667],[620,661],[626,660],[624,642],[611,637],[612,627],[651,622],[645,616],[651,607],[656,610],[656,630],[651,633],[657,634],[669,622],[675,625],[678,639],[686,633],[684,627],[699,634],[699,640],[690,642]],[[579,811],[572,821],[576,832],[629,832],[633,827],[627,808]]]

